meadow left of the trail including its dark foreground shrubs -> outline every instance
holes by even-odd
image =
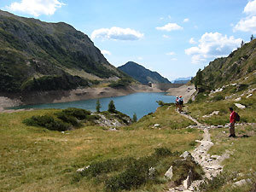
[[[182,119],[172,109],[159,108],[154,114],[152,124],[174,117],[173,123],[170,120],[168,124],[161,124],[161,129],[153,129],[146,116],[119,131],[106,131],[103,127],[83,123],[80,129],[60,132],[22,123],[32,116],[49,115],[58,119],[67,113],[79,120],[84,118],[84,113],[71,109],[0,113],[0,153],[3,157],[0,160],[0,190],[91,192],[129,188],[131,191],[162,191],[166,188],[163,174],[173,160],[179,159],[178,154],[184,150],[195,148],[195,140],[201,138],[198,130],[176,129],[177,121]],[[88,117],[87,113],[85,116]],[[186,124],[191,122],[188,120]],[[89,165],[84,175],[76,173]],[[140,168],[136,169],[137,166]],[[157,171],[152,175],[153,180],[144,174],[149,166]],[[182,167],[180,165],[180,169]],[[133,175],[137,175],[137,180]],[[178,180],[182,175],[175,177]],[[126,179],[131,179],[132,184],[123,185]]]

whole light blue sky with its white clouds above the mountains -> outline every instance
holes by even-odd
[[[0,8],[87,34],[108,61],[173,80],[256,36],[256,0],[0,0]]]

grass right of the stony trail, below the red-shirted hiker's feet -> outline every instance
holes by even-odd
[[[226,131],[224,133],[224,131]],[[232,183],[241,179],[251,178],[255,183],[253,174],[256,172],[256,125],[236,126],[236,138],[228,137],[228,129],[214,129],[210,133],[215,143],[210,148],[210,154],[224,154],[230,151],[230,158],[224,160],[224,171],[215,179],[215,183],[207,185],[206,191],[217,192],[247,192],[253,189],[252,184],[241,187],[232,187]],[[249,137],[242,137],[247,135]]]

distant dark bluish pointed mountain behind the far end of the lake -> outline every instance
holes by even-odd
[[[162,77],[160,73],[152,72],[133,61],[125,63],[125,65],[118,67],[118,69],[142,84],[148,84],[149,81],[154,84],[171,84],[171,82],[168,79]]]

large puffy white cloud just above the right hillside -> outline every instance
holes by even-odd
[[[241,44],[241,38],[222,35],[218,32],[206,32],[201,36],[199,45],[185,49],[187,55],[192,55],[192,63],[204,63],[209,59],[229,55]]]

